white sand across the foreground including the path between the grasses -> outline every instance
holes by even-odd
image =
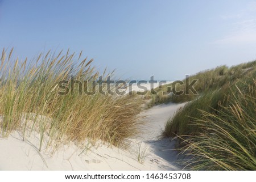
[[[184,104],[157,105],[144,111],[146,123],[143,133],[128,139],[129,149],[107,145],[93,147],[84,144],[82,151],[74,143],[65,145],[52,156],[39,152],[39,134],[34,132],[25,141],[18,132],[9,138],[0,138],[0,170],[178,170],[173,165],[177,159],[173,151],[175,141],[158,140],[167,119]],[[47,138],[46,138],[47,140]],[[138,162],[138,151],[146,150],[144,163]]]

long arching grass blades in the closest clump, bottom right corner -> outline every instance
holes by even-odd
[[[233,88],[228,102],[195,120],[202,130],[183,147],[193,156],[187,163],[192,169],[256,170],[256,80]]]

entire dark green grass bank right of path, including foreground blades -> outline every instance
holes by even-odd
[[[211,81],[167,121],[163,136],[179,137],[179,149],[192,156],[186,167],[256,170],[255,63],[225,69],[226,83]]]

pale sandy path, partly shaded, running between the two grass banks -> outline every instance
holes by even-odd
[[[174,115],[178,108],[183,107],[183,104],[161,104],[152,107],[144,112],[146,123],[143,131],[138,139],[148,146],[147,158],[158,161],[156,166],[160,170],[178,170],[174,166],[174,161],[177,159],[175,149],[175,141],[164,138],[159,139],[159,136],[164,129],[164,125],[168,118]],[[147,161],[148,162],[148,161]]]

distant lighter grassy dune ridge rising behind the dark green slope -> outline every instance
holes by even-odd
[[[191,91],[189,92],[189,94],[183,93],[181,95],[177,95],[173,89],[177,81],[170,84],[165,84],[160,88],[156,88],[155,91],[157,92],[157,95],[149,95],[151,98],[151,103],[149,104],[149,106],[152,107],[156,104],[170,102],[183,103],[185,101],[191,101],[206,92],[218,90],[227,83],[230,84],[236,82],[248,72],[253,71],[255,65],[256,61],[247,62],[245,64],[232,67],[227,67],[225,65],[218,66],[215,69],[201,71],[200,73],[189,76],[189,78],[185,78],[183,80],[184,83],[185,81],[190,83],[193,80],[197,80],[193,87],[195,88],[198,95],[193,94]],[[176,84],[176,90],[185,90],[185,84]],[[164,92],[171,94],[166,95],[163,94]]]

